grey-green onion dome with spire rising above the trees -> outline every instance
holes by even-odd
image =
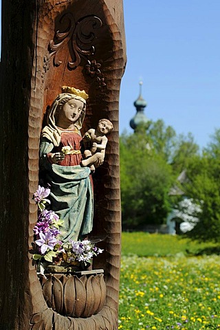
[[[143,85],[142,81],[140,81],[139,85],[140,85],[140,95],[138,96],[137,100],[135,100],[135,102],[133,103],[137,110],[137,113],[130,120],[131,129],[133,129],[134,131],[135,129],[137,129],[137,126],[139,125],[146,126],[146,129],[148,128],[149,125],[149,120],[148,118],[146,118],[146,115],[144,113],[144,108],[147,106],[147,103],[142,97],[142,85]]]

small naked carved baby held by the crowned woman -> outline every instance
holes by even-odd
[[[105,148],[108,142],[106,135],[113,130],[113,124],[108,119],[100,119],[96,129],[89,129],[83,136],[85,146],[90,142],[91,148],[85,149],[81,166],[89,166],[91,170],[104,162]]]

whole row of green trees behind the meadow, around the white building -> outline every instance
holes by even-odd
[[[177,177],[186,170],[179,188],[199,203],[202,212],[187,233],[200,241],[220,239],[220,129],[216,129],[203,153],[192,135],[179,135],[162,120],[140,126],[134,134],[120,137],[123,228],[141,228],[166,221],[179,197],[170,197]]]

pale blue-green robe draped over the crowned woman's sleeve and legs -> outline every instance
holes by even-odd
[[[93,225],[93,190],[89,167],[61,166],[50,164],[47,153],[53,152],[54,144],[47,139],[41,141],[40,168],[50,185],[50,209],[64,220],[60,239],[77,241],[89,234]]]

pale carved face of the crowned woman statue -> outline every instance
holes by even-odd
[[[83,110],[83,102],[80,100],[67,101],[58,115],[58,124],[63,126],[63,124],[74,124],[80,117]]]

